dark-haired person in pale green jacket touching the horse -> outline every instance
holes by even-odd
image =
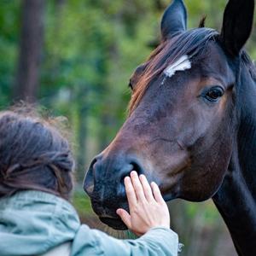
[[[69,199],[74,159],[56,125],[27,111],[0,112],[0,255],[177,255],[156,183],[125,177],[130,211],[117,214],[139,238],[118,240],[81,224]]]

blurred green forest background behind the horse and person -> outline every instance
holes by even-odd
[[[225,0],[185,1],[189,27],[207,15],[220,29]],[[111,142],[125,120],[131,73],[160,38],[160,17],[169,0],[1,0],[0,108],[26,100],[67,117],[77,159],[73,204],[91,227],[99,223],[81,189],[90,159]],[[253,34],[247,49],[256,56]],[[170,204],[181,255],[236,255],[212,201]]]

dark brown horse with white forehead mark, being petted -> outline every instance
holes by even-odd
[[[230,0],[222,32],[187,30],[182,0],[161,22],[162,41],[131,78],[130,114],[84,181],[102,222],[125,225],[123,179],[136,170],[166,201],[212,197],[239,255],[256,255],[256,73],[242,49],[253,0]]]

